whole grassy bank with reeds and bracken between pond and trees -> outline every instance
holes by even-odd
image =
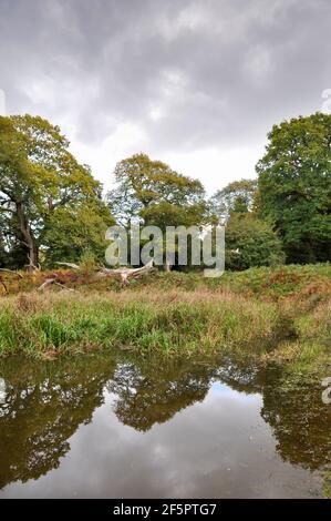
[[[51,358],[113,347],[167,356],[236,351],[300,370],[325,365],[330,266],[281,269],[216,280],[156,273],[125,289],[113,287],[113,280],[96,288],[85,274],[84,283],[72,282],[80,292],[30,288],[0,299],[0,356]],[[69,280],[72,274],[65,274]]]

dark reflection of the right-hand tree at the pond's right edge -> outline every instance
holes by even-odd
[[[285,461],[310,470],[331,463],[331,406],[322,402],[319,378],[291,375],[278,365],[263,368],[230,360],[218,376],[232,389],[262,395],[261,417]]]

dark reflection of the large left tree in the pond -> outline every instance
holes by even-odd
[[[100,357],[52,364],[6,362],[6,402],[0,406],[0,488],[38,479],[60,464],[69,438],[103,402],[114,366]]]

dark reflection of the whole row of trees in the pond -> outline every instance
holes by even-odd
[[[120,421],[139,431],[201,401],[213,380],[237,391],[260,392],[261,416],[283,460],[312,470],[330,462],[331,407],[322,403],[322,389],[277,366],[266,369],[229,359],[165,362],[118,354],[54,364],[13,360],[1,369],[7,398],[0,405],[0,488],[59,467],[70,437],[103,403],[105,387],[114,394]]]

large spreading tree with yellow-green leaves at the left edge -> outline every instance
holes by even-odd
[[[72,244],[74,252],[86,247],[86,241],[89,245],[90,239],[81,237],[80,224],[79,237],[75,226],[70,236],[63,234],[69,232],[70,219],[76,224],[83,218],[86,224],[90,212],[91,231],[101,228],[102,219],[105,228],[111,218],[100,183],[69,152],[60,129],[31,115],[0,118],[0,212],[7,242],[12,248],[21,244],[31,265],[38,265],[41,247],[62,254]]]

